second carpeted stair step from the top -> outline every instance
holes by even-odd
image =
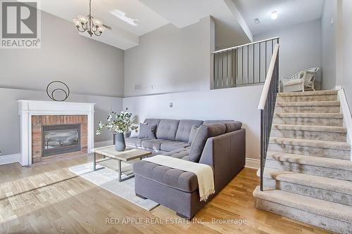
[[[289,113],[339,113],[339,101],[277,102],[275,112]]]

